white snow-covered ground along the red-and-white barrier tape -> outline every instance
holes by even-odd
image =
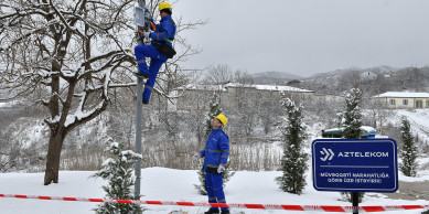
[[[428,161],[428,160],[422,160]],[[106,182],[101,179],[89,178],[94,172],[62,171],[60,183],[43,185],[43,173],[3,173],[0,174],[0,194],[24,194],[45,196],[72,196],[72,197],[103,197],[105,195],[101,185]],[[350,206],[341,199],[337,192],[318,192],[313,189],[311,174],[308,174],[308,185],[301,195],[281,192],[274,181],[281,174],[280,171],[248,172],[238,171],[226,185],[226,200],[228,203],[256,203],[256,204],[291,204],[291,205],[343,205]],[[417,182],[429,180],[429,175],[411,179],[400,174],[399,180]],[[206,196],[200,195],[193,184],[197,183],[197,173],[194,170],[173,170],[165,168],[149,168],[142,170],[141,192],[143,201],[176,201],[176,202],[206,202]],[[66,202],[43,201],[24,199],[0,197],[1,214],[85,214],[92,211],[98,203],[93,202]],[[428,201],[389,200],[383,194],[367,193],[360,205],[425,205]],[[191,213],[204,213],[206,207],[189,206],[159,206],[144,205],[144,213],[169,213],[171,211],[185,211]],[[422,210],[397,211],[383,213],[421,213]],[[239,210],[232,213],[286,213],[285,211]],[[288,212],[288,213],[322,213],[322,212]],[[325,213],[325,212],[323,212]]]

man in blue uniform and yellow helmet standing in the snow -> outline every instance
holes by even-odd
[[[207,188],[208,203],[226,203],[223,190],[222,173],[225,171],[229,156],[229,138],[222,130],[228,120],[225,115],[217,115],[212,120],[212,132],[208,135],[204,150],[194,156],[195,159],[204,158],[205,184]],[[229,214],[227,207],[222,207],[221,214]],[[206,214],[219,213],[217,207],[211,207]]]

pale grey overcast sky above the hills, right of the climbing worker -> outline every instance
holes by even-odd
[[[203,49],[190,66],[309,76],[429,65],[429,0],[179,0],[174,15],[210,20],[182,34]]]

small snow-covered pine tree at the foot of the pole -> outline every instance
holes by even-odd
[[[141,154],[131,150],[124,151],[124,145],[112,142],[107,151],[112,158],[103,163],[103,169],[93,176],[108,180],[103,186],[108,199],[139,200],[133,196],[131,186],[135,185],[133,164],[141,160]],[[142,208],[139,204],[103,203],[95,208],[96,213],[139,214]]]

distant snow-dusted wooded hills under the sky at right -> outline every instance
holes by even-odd
[[[301,87],[318,94],[342,95],[352,87],[365,88],[368,97],[385,92],[429,92],[429,67],[351,67],[301,81]]]

